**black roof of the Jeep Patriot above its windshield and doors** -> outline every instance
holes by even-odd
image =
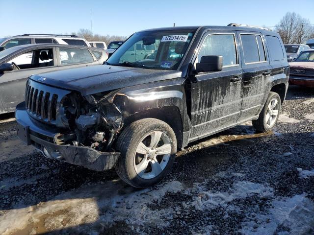
[[[173,30],[197,30],[197,29],[203,29],[203,30],[234,30],[234,31],[252,31],[252,32],[263,32],[268,34],[277,34],[273,31],[268,31],[262,28],[258,27],[241,27],[241,26],[217,26],[217,25],[204,25],[204,26],[176,26],[176,27],[164,27],[164,28],[152,28],[152,29],[145,29],[140,32],[146,32],[146,31],[160,31],[160,30],[166,30],[166,31],[173,31]]]

